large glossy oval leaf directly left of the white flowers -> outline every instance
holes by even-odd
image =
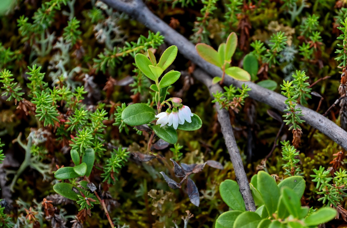
[[[155,120],[155,112],[148,105],[137,103],[126,107],[121,118],[124,123],[136,126]]]

